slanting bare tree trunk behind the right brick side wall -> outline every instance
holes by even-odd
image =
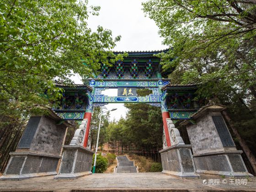
[[[228,121],[228,123],[230,125],[230,128],[235,133],[235,136],[236,136],[239,144],[241,145],[243,151],[245,152],[245,155],[247,156],[248,160],[250,161],[252,169],[254,171],[254,174],[256,174],[256,158],[255,158],[255,156],[252,154],[251,150],[249,149],[249,147],[245,143],[244,139],[241,138],[241,136],[238,133],[238,131],[236,130],[236,128],[234,128],[233,124],[231,123],[231,119],[229,118],[227,112],[224,111],[222,113],[223,113],[225,119]]]

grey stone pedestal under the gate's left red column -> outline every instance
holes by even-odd
[[[59,174],[54,179],[76,179],[91,173],[94,152],[80,145],[64,145]]]

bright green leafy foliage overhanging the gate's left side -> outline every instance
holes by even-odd
[[[8,101],[0,115],[41,110],[62,96],[54,79],[70,84],[78,73],[85,80],[101,62],[115,60],[110,49],[120,37],[100,26],[92,32],[86,23],[99,9],[87,11],[87,0],[0,2],[0,99]]]

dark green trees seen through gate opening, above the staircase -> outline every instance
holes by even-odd
[[[125,104],[127,118],[111,122],[107,127],[107,140],[113,148],[157,149],[162,147],[163,124],[161,109],[144,103]]]

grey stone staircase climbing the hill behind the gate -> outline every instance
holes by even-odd
[[[127,156],[117,156],[117,166],[115,173],[137,173],[137,167],[134,166],[134,161],[130,161]]]

